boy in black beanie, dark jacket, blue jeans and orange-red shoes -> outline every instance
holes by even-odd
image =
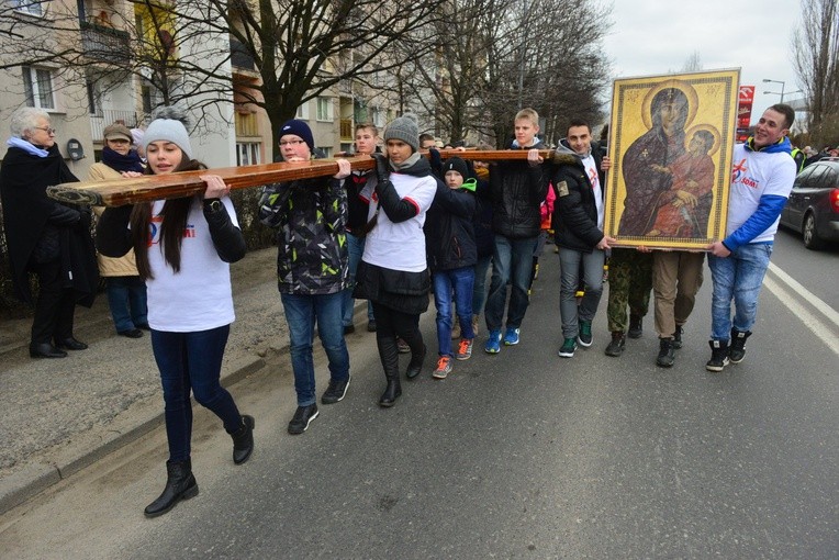
[[[439,359],[432,373],[435,379],[445,379],[451,372],[452,292],[462,336],[454,357],[468,360],[472,356],[472,288],[478,261],[472,225],[476,180],[467,180],[467,165],[459,157],[448,159],[443,171],[446,184],[437,183],[424,227],[437,307]]]

